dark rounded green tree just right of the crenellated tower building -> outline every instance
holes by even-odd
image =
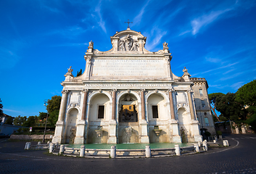
[[[246,120],[247,112],[244,106],[235,101],[236,94],[227,93],[226,95],[216,98],[216,109],[221,113],[220,117],[226,117],[235,123],[241,123]]]

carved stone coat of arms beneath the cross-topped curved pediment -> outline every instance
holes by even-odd
[[[139,41],[134,41],[131,35],[125,36],[123,40],[119,41],[118,50],[119,51],[138,51]]]

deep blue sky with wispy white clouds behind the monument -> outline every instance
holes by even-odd
[[[67,68],[84,71],[89,41],[112,48],[125,30],[146,36],[146,49],[167,42],[175,75],[206,78],[208,93],[236,92],[256,79],[256,1],[0,1],[0,98],[14,117],[45,112],[61,95]]]

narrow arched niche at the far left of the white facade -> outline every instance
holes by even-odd
[[[76,133],[76,121],[78,119],[78,109],[70,109],[66,122],[66,143],[74,144]]]

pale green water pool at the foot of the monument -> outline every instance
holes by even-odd
[[[150,146],[151,149],[167,149],[174,148],[176,144],[171,143],[152,143],[152,144],[69,144],[68,147],[80,148],[85,145],[86,149],[110,149],[111,146],[116,146],[116,149],[145,149]],[[192,144],[178,144],[180,147],[191,146]]]

